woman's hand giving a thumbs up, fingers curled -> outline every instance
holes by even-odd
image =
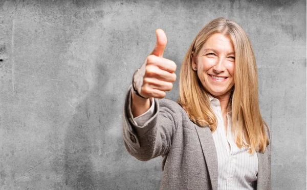
[[[156,36],[155,49],[147,56],[133,81],[135,89],[144,98],[164,98],[165,92],[172,89],[172,83],[176,80],[176,64],[163,58],[167,43],[166,34],[162,29],[157,29]]]

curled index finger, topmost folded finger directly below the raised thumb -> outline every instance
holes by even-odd
[[[177,65],[175,62],[165,59],[165,58],[160,58],[157,56],[150,55],[147,57],[147,63],[156,65],[160,69],[165,70],[167,72],[173,73],[177,69]]]

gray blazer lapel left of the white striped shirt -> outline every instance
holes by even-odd
[[[209,127],[199,127],[197,125],[195,125],[195,129],[201,142],[203,154],[209,171],[212,189],[217,189],[217,154],[211,130]]]

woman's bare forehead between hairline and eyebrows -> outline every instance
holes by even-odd
[[[229,51],[234,52],[232,40],[221,33],[212,34],[202,47],[202,51],[205,49],[214,49],[216,51]]]

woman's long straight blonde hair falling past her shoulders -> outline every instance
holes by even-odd
[[[180,70],[178,103],[195,124],[209,126],[214,132],[217,119],[210,107],[209,95],[192,69],[192,56],[196,57],[206,40],[221,33],[232,40],[235,50],[234,87],[229,101],[232,114],[232,133],[239,148],[249,153],[265,152],[269,144],[269,126],[262,119],[258,104],[258,76],[255,55],[245,31],[234,21],[216,18],[206,24],[194,38]]]

